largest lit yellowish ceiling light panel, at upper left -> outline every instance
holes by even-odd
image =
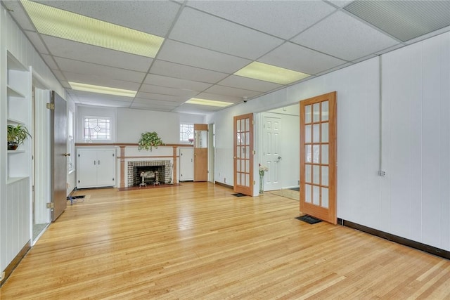
[[[22,1],[25,10],[41,34],[80,43],[154,58],[162,37],[89,18],[77,13]]]

